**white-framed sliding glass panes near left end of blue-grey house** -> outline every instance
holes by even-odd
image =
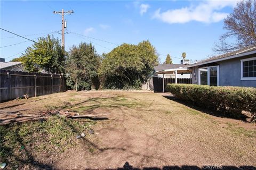
[[[219,86],[219,66],[209,66],[199,69],[199,84]]]

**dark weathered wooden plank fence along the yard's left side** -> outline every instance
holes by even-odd
[[[28,73],[10,70],[0,71],[0,102],[53,94],[67,90],[66,81],[60,74]]]

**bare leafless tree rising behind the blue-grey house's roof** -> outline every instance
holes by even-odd
[[[230,52],[255,44],[256,1],[239,1],[233,13],[224,20],[223,28],[227,32],[220,37],[220,43],[215,45],[215,52]]]

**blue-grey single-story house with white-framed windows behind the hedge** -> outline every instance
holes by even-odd
[[[192,83],[256,87],[256,45],[188,65]]]

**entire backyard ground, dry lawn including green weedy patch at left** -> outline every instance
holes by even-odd
[[[171,94],[67,91],[1,104],[2,111],[14,109],[26,114],[69,109],[108,119],[57,115],[2,125],[0,156],[6,169],[256,166],[255,124],[200,112]],[[76,139],[81,132],[85,137]]]

